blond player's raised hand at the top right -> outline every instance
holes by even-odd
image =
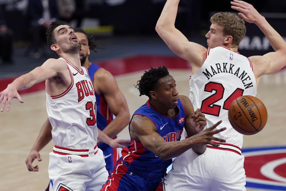
[[[238,13],[238,16],[249,23],[255,23],[262,17],[251,4],[245,1],[233,0],[230,3],[232,4],[232,9],[241,12]]]

